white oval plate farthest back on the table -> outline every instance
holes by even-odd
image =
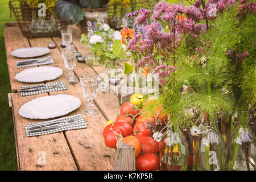
[[[28,58],[43,56],[47,53],[49,53],[49,49],[47,47],[26,47],[14,50],[11,52],[11,55],[19,58]]]

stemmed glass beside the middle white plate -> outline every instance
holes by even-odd
[[[62,52],[64,65],[69,70],[68,82],[73,84],[78,81],[78,78],[74,76],[73,68],[76,66],[76,49],[73,45],[69,45]]]

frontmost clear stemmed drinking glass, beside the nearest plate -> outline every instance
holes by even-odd
[[[82,93],[84,98],[88,100],[88,110],[85,110],[83,114],[85,115],[96,115],[98,110],[92,109],[93,99],[97,96],[97,75],[95,74],[85,74],[79,77],[80,83],[82,85]]]

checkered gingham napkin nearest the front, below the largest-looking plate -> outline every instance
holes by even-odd
[[[33,136],[38,136],[38,135],[46,135],[46,134],[56,133],[56,132],[59,132],[59,131],[86,129],[87,128],[87,123],[84,121],[84,118],[82,117],[82,114],[72,115],[71,117],[53,119],[51,121],[44,121],[44,122],[40,122],[40,124],[49,123],[49,122],[58,122],[58,121],[69,121],[69,120],[71,120],[73,118],[76,118],[76,117],[81,117],[81,118],[78,121],[73,122],[71,125],[69,125],[68,123],[59,123],[59,124],[56,124],[56,125],[51,125],[53,127],[56,126],[57,127],[56,129],[49,129],[47,131],[38,131],[38,132],[35,132],[35,133],[28,133],[28,131],[29,131],[30,127],[37,126],[39,123],[27,124],[27,125],[25,125],[26,135],[27,135],[27,137],[33,137]],[[40,127],[40,129],[44,129],[46,127],[47,126]]]

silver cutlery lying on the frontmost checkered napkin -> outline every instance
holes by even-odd
[[[52,121],[52,122],[43,123],[43,124],[41,123],[41,124],[38,124],[36,126],[29,127],[28,130],[31,131],[31,132],[36,132],[39,129],[42,130],[42,127],[46,127],[46,126],[51,126],[51,127],[46,127],[46,128],[43,128],[43,129],[51,129],[52,127],[56,127],[56,126],[53,126],[53,125],[57,125],[57,124],[61,124],[61,123],[65,123],[65,125],[67,125],[67,124],[77,122],[77,121],[79,121],[79,119],[81,119],[81,117],[82,117],[81,115],[77,115],[77,117],[72,118],[69,121]]]

